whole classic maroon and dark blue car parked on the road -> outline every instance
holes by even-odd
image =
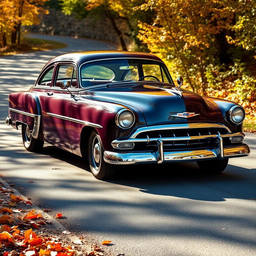
[[[87,156],[98,179],[110,178],[121,164],[196,161],[219,173],[229,158],[248,156],[242,106],[184,90],[182,83],[179,77],[175,86],[152,54],[63,54],[28,91],[10,94],[5,122],[21,125],[28,151],[48,142]]]

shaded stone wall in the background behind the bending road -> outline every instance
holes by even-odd
[[[106,17],[78,20],[73,15],[65,15],[61,10],[50,9],[39,25],[28,27],[28,31],[39,34],[92,38],[117,43],[118,38]]]

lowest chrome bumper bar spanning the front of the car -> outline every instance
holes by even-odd
[[[161,145],[159,145],[161,148]],[[188,150],[173,152],[104,152],[104,160],[110,164],[150,164],[162,162],[191,162],[198,160],[210,160],[214,158],[232,158],[248,156],[248,145],[234,146],[229,148],[214,148],[212,150]]]

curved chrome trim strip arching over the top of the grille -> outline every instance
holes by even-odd
[[[192,124],[165,124],[156,126],[144,126],[135,130],[130,138],[136,138],[142,132],[157,131],[157,130],[174,130],[174,129],[191,129],[191,128],[225,128],[228,132],[231,130],[224,124],[212,123],[192,123]]]

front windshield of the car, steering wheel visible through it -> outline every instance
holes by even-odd
[[[83,87],[139,79],[173,84],[166,66],[154,60],[99,60],[83,64],[80,72]]]

